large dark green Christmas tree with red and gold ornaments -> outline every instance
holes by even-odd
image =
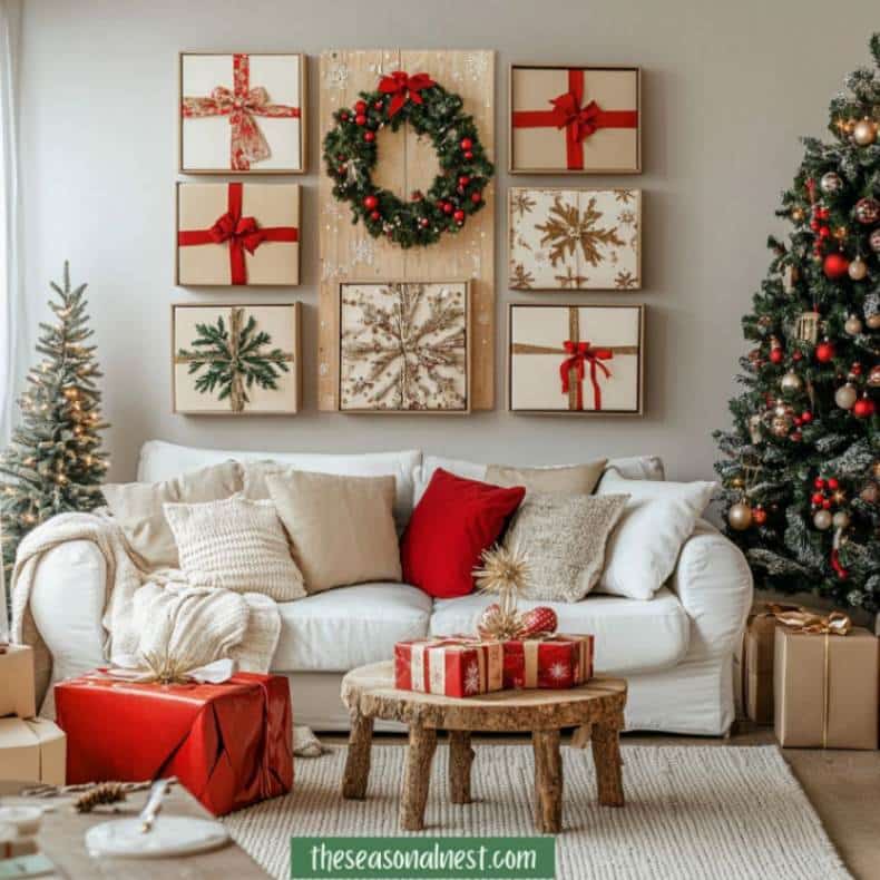
[[[805,138],[770,271],[743,319],[726,458],[731,537],[756,585],[880,609],[880,33],[845,78],[831,139]]]

